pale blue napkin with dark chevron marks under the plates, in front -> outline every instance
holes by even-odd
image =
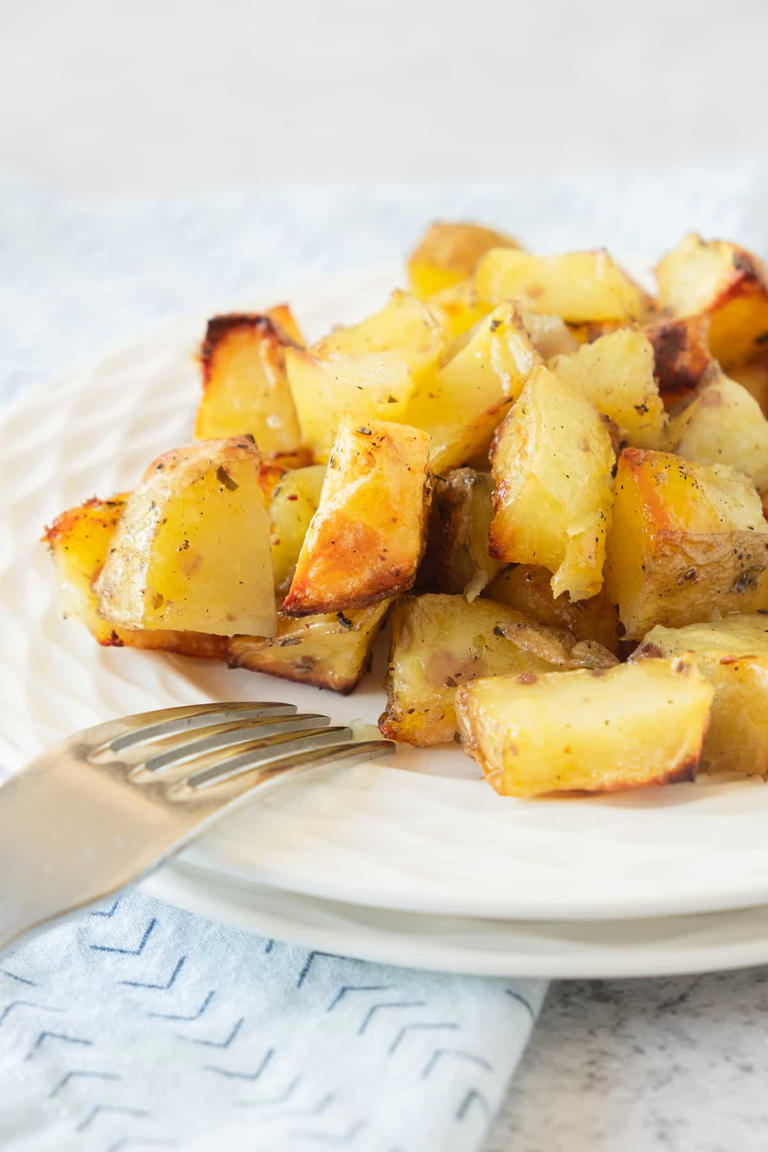
[[[135,890],[0,956],[0,1147],[469,1152],[543,988],[306,952]]]

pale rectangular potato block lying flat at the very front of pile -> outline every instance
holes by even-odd
[[[693,779],[713,695],[678,657],[476,680],[456,711],[466,752],[500,795],[617,791]]]

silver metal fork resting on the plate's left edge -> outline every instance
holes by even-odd
[[[138,879],[258,788],[394,749],[272,703],[161,708],[71,736],[0,787],[0,949]]]

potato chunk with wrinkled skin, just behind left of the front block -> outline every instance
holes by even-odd
[[[442,744],[456,734],[456,687],[476,676],[546,672],[591,661],[571,652],[573,637],[537,624],[492,600],[406,596],[393,609],[385,736],[406,744]],[[610,659],[610,657],[608,657]]]

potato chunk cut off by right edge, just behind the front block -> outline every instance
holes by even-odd
[[[657,624],[632,659],[684,652],[715,690],[702,763],[716,772],[768,775],[768,616]]]

